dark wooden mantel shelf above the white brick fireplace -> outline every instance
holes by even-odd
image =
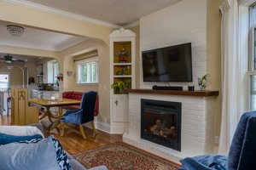
[[[151,90],[151,89],[130,89],[130,94],[170,94],[185,96],[210,97],[218,96],[218,91],[188,91],[188,90]]]

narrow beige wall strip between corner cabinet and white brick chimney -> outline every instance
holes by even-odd
[[[140,88],[140,26],[131,28],[131,31],[134,31],[136,34],[135,40],[135,77],[136,77],[136,88]]]

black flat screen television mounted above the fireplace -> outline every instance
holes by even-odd
[[[192,82],[191,42],[143,51],[143,82]]]

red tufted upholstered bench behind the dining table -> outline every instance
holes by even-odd
[[[73,92],[73,91],[72,92],[63,92],[62,98],[81,100],[83,94],[84,94],[83,92]],[[64,106],[62,108],[66,109],[66,110],[74,110],[74,109],[79,109],[80,105],[69,105],[69,106]],[[99,114],[99,95],[97,95],[97,97],[96,97],[94,116],[98,116],[98,114]]]

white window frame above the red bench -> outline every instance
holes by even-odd
[[[87,65],[91,62],[96,62],[96,82],[79,82],[79,65]],[[88,85],[93,85],[93,84],[98,84],[99,83],[99,59],[98,55],[93,56],[93,57],[88,57],[84,59],[79,59],[75,61],[75,69],[76,69],[76,83],[83,85],[83,84],[88,84]]]

